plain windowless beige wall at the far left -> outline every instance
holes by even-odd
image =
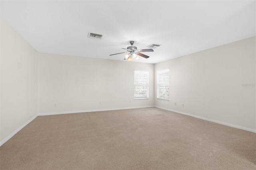
[[[37,115],[38,52],[1,18],[0,141]]]

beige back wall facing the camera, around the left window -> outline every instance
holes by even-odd
[[[149,71],[149,99],[134,100],[134,69]],[[39,53],[39,114],[147,106],[154,64]]]

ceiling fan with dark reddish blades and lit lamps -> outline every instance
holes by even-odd
[[[122,48],[122,49],[126,49],[127,51],[122,52],[122,53],[128,53],[126,55],[124,55],[124,59],[127,59],[128,61],[132,61],[132,58],[134,59],[139,59],[138,55],[140,55],[141,57],[144,58],[148,58],[148,55],[142,54],[140,52],[150,52],[150,51],[154,51],[153,49],[137,49],[137,47],[133,46],[134,41],[130,41],[131,46],[127,47],[127,48]],[[116,53],[116,54],[122,54],[122,53]],[[111,54],[111,55],[116,55],[116,54]]]

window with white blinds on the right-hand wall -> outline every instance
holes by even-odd
[[[157,99],[169,100],[169,69],[156,71]]]

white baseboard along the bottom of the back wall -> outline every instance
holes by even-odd
[[[67,111],[67,112],[39,113],[38,116],[61,115],[61,114],[84,113],[84,112],[99,112],[99,111],[114,111],[114,110],[124,110],[124,109],[140,109],[140,108],[146,108],[146,107],[154,107],[154,106],[122,107],[122,108],[112,108],[112,109],[93,109],[93,110],[85,110],[85,111]]]

